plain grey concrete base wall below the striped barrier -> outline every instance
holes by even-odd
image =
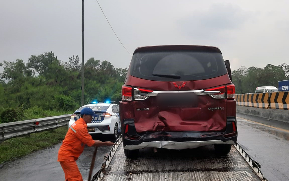
[[[289,111],[282,109],[263,109],[263,108],[253,108],[245,106],[236,106],[237,112],[241,114],[257,116],[266,119],[273,119],[276,121],[282,121],[284,123],[289,123]]]

